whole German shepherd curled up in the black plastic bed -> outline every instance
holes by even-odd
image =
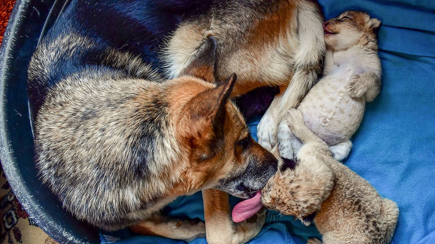
[[[275,130],[317,78],[321,23],[305,0],[72,0],[29,66],[43,181],[104,230],[248,241],[264,213],[234,224],[227,193],[249,198],[278,162],[231,98],[280,86],[259,127]],[[157,213],[201,190],[205,225]]]

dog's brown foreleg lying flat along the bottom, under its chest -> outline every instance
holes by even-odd
[[[205,224],[199,219],[180,220],[154,214],[146,220],[130,226],[131,231],[141,235],[161,236],[192,241],[205,237]]]

